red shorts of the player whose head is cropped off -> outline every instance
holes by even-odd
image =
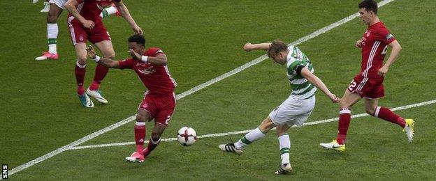
[[[87,29],[83,27],[80,22],[68,21],[68,26],[70,29],[71,40],[73,45],[78,44],[78,42],[92,42],[95,44],[104,40],[110,40],[109,32],[103,25],[103,22],[98,22],[95,24],[94,29]]]

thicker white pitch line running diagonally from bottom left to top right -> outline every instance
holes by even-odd
[[[379,2],[379,7],[382,7],[382,6],[384,6],[387,3],[390,3],[392,1],[395,1],[395,0],[384,0],[384,1],[381,1],[381,2]],[[356,17],[358,17],[358,13],[354,13],[353,15],[350,15],[349,17],[345,17],[344,19],[341,19],[341,20],[339,20],[339,21],[337,21],[337,22],[335,22],[333,24],[330,24],[329,26],[326,26],[323,29],[319,29],[318,31],[314,31],[314,33],[311,33],[310,35],[305,36],[303,38],[300,38],[300,39],[296,40],[295,42],[291,42],[289,45],[298,45],[298,44],[300,44],[302,42],[310,40],[310,39],[312,39],[314,37],[317,37],[317,36],[321,35],[322,33],[326,33],[326,31],[329,31],[330,29],[333,29],[333,28],[335,28],[337,26],[340,26],[340,25],[342,25],[342,24],[344,24],[346,22],[349,22],[349,21],[351,21],[351,19],[354,19]],[[261,63],[261,61],[266,60],[266,58],[267,58],[266,55],[260,56],[259,58],[256,58],[253,61],[250,61],[249,63],[245,63],[244,65],[240,66],[240,68],[235,68],[234,70],[231,70],[230,72],[227,72],[227,73],[225,73],[225,74],[223,74],[223,75],[221,75],[221,76],[219,76],[219,77],[217,77],[215,79],[207,81],[207,82],[205,82],[205,83],[203,83],[201,85],[195,86],[194,88],[191,88],[189,91],[185,91],[184,93],[180,93],[179,95],[177,95],[177,100],[180,100],[183,97],[186,97],[187,95],[191,95],[192,93],[195,93],[196,91],[199,91],[199,90],[201,90],[201,89],[203,89],[203,88],[205,88],[207,86],[215,84],[218,81],[221,81],[222,79],[225,79],[226,77],[229,77],[229,76],[231,76],[231,75],[233,75],[235,73],[238,73],[238,72],[240,72],[242,70],[245,70],[245,69],[251,67],[252,65],[256,65],[258,63]],[[119,121],[118,123],[115,123],[113,125],[110,125],[108,127],[103,128],[103,129],[101,129],[101,130],[99,130],[97,132],[94,132],[93,134],[89,134],[88,136],[85,136],[82,139],[74,141],[73,143],[70,143],[68,145],[64,145],[63,147],[58,148],[57,150],[54,150],[54,151],[49,152],[49,153],[47,153],[47,154],[45,154],[45,155],[43,155],[41,157],[36,158],[36,159],[34,159],[34,160],[30,161],[30,162],[27,162],[26,164],[22,164],[20,166],[17,166],[15,168],[13,168],[12,170],[10,170],[9,175],[13,175],[13,174],[15,174],[15,173],[17,173],[19,171],[22,171],[22,170],[24,170],[26,168],[29,168],[30,166],[33,166],[34,164],[38,164],[39,162],[43,162],[45,159],[53,157],[54,155],[58,155],[59,153],[64,152],[65,150],[69,150],[69,149],[75,147],[76,145],[84,143],[85,141],[93,139],[96,136],[99,136],[101,134],[109,132],[110,130],[115,129],[117,127],[120,127],[122,125],[125,125],[126,123],[129,123],[130,121],[132,121],[134,119],[135,119],[134,116],[126,118],[126,119],[124,119],[122,121]],[[2,179],[0,178],[0,180],[2,180]]]

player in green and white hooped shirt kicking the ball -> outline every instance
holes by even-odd
[[[262,139],[273,127],[277,127],[282,164],[280,164],[279,170],[275,174],[289,173],[292,171],[289,162],[291,141],[287,134],[289,127],[293,125],[301,127],[307,118],[309,118],[315,106],[315,91],[317,91],[317,88],[325,93],[333,102],[340,102],[340,98],[330,93],[321,79],[313,74],[314,68],[312,63],[298,47],[288,47],[284,42],[274,40],[273,42],[261,44],[247,42],[244,45],[244,49],[247,52],[253,49],[267,50],[268,56],[273,58],[275,63],[286,65],[287,78],[291,83],[292,93],[279,107],[270,112],[269,116],[262,121],[259,127],[245,134],[236,143],[219,145],[219,149],[224,152],[241,154],[245,146]]]

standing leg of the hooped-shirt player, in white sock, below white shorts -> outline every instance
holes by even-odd
[[[289,139],[288,134],[289,125],[278,125],[276,128],[282,164],[280,164],[279,170],[275,174],[286,174],[292,171],[291,162],[289,162],[289,149],[291,148],[291,139]]]

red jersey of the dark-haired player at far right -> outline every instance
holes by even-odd
[[[362,37],[361,76],[379,77],[378,70],[382,68],[388,45],[395,40],[382,22],[368,26]]]

